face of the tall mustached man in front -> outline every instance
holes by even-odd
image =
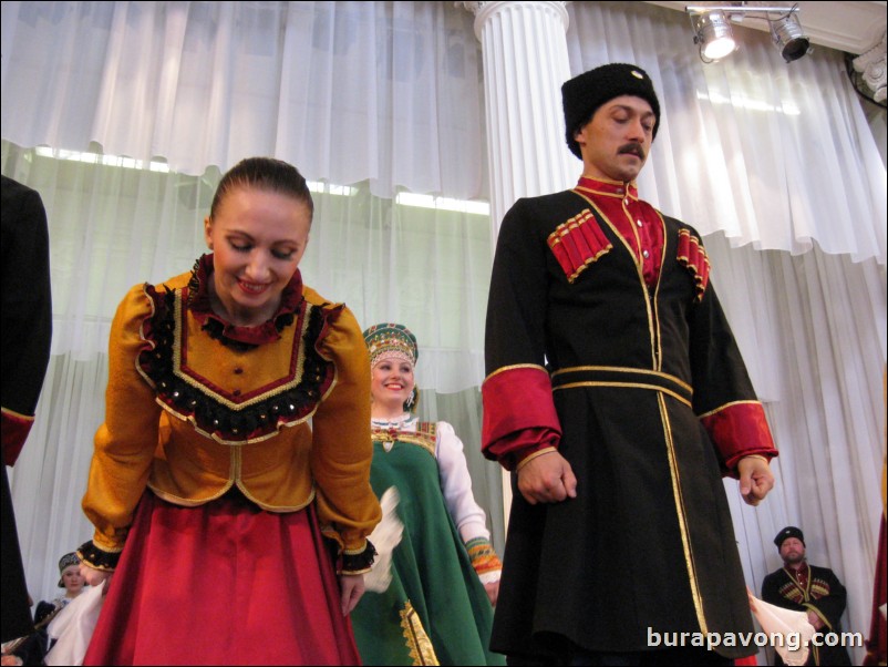
[[[634,181],[648,160],[655,122],[650,103],[634,95],[620,95],[599,106],[574,135],[582,152],[582,175]]]

